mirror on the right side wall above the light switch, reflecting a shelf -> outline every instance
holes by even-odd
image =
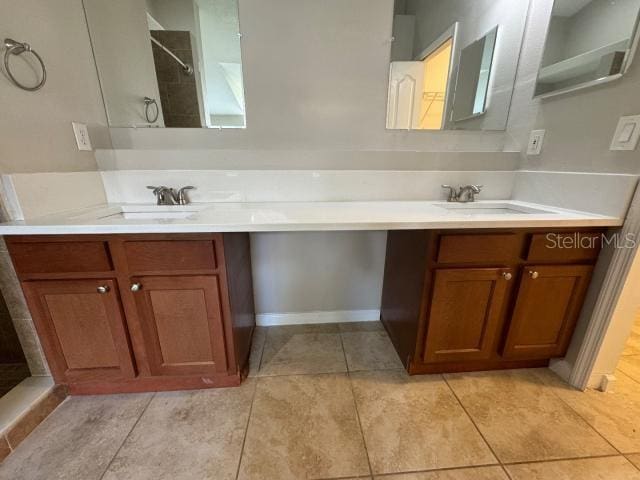
[[[535,95],[620,78],[637,47],[640,0],[556,0]]]

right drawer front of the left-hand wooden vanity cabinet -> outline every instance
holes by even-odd
[[[130,272],[202,271],[217,266],[215,241],[144,240],[124,244]]]

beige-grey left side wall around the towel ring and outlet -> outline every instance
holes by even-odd
[[[96,147],[109,147],[106,118],[87,37],[81,0],[0,0],[0,32],[30,43],[44,59],[48,79],[26,92],[0,75],[0,171],[95,170],[93,152],[79,152],[71,121],[91,128]],[[16,75],[35,82],[19,58]]]

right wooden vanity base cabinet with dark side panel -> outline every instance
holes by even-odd
[[[381,319],[409,373],[563,356],[601,229],[389,232]]]

